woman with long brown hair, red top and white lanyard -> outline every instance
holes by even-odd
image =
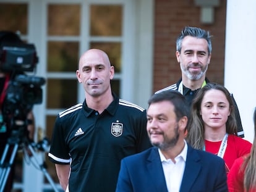
[[[226,172],[234,161],[250,152],[252,144],[237,136],[234,103],[224,86],[208,83],[192,102],[187,143],[222,157]]]

